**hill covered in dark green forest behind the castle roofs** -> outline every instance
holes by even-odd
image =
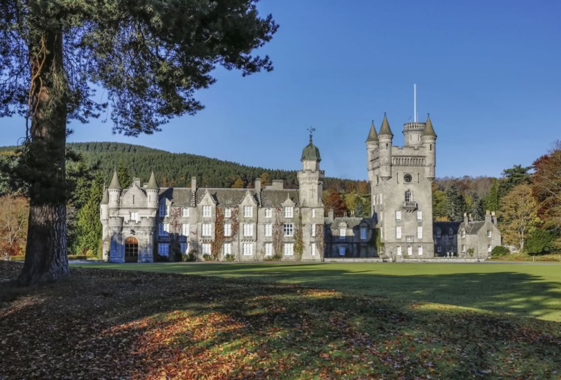
[[[190,178],[197,177],[197,186],[231,187],[238,178],[244,186],[252,186],[255,178],[264,173],[269,180],[285,180],[285,186],[296,187],[296,171],[246,166],[236,162],[188,153],[171,153],[142,145],[122,143],[69,143],[68,147],[80,153],[86,164],[99,161],[107,177],[113,168],[126,167],[131,176],[148,181],[153,170],[160,186],[190,186]],[[0,147],[0,152],[10,152],[15,146]],[[353,180],[326,178],[325,186],[345,189]],[[239,183],[239,181],[238,181]]]

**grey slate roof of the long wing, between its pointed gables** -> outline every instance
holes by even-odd
[[[203,200],[206,190],[209,191],[210,196],[213,197],[214,202],[219,207],[236,207],[243,202],[247,191],[254,198],[257,203],[255,189],[215,189],[202,187],[196,191],[196,204]],[[287,199],[287,195],[296,206],[298,202],[298,190],[296,189],[263,189],[261,190],[261,207],[280,207],[280,205]],[[160,189],[160,199],[167,198],[176,206],[191,207],[192,206],[192,193],[190,187],[164,187]]]

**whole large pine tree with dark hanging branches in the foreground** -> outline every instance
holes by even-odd
[[[0,116],[24,115],[14,175],[29,185],[21,284],[68,273],[66,136],[107,108],[113,131],[151,134],[203,108],[217,65],[272,70],[252,56],[277,30],[255,0],[6,0],[0,3]],[[95,88],[107,101],[96,103]]]

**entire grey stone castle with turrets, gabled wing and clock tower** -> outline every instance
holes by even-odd
[[[324,216],[324,171],[312,142],[302,150],[298,189],[282,180],[254,189],[160,188],[154,172],[122,189],[117,173],[100,204],[103,259],[153,262],[179,254],[197,260],[259,261],[434,257],[485,258],[500,245],[494,213],[484,221],[433,222],[436,134],[426,122],[404,124],[394,146],[387,117],[366,139],[371,217]]]

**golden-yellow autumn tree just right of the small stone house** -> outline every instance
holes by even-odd
[[[524,249],[527,235],[539,224],[537,203],[530,185],[520,184],[504,196],[499,217],[502,219],[504,242]]]

